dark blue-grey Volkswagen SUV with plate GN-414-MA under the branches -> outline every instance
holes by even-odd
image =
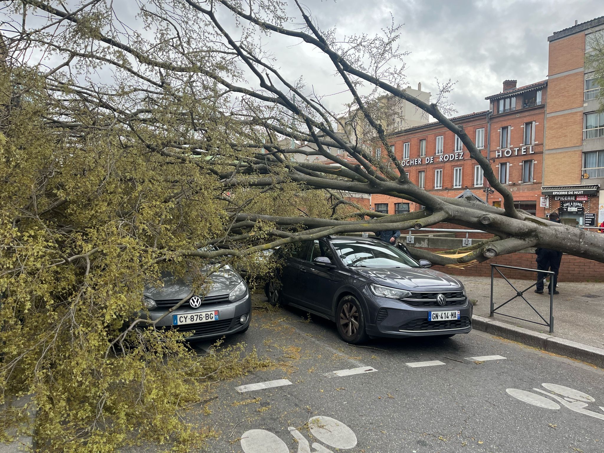
[[[344,341],[368,336],[453,336],[472,330],[463,284],[377,239],[332,236],[279,249],[266,284],[271,304],[336,323]]]

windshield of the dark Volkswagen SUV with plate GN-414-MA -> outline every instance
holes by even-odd
[[[333,248],[349,268],[420,268],[411,257],[387,243],[333,240]]]

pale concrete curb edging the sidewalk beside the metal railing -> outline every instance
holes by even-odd
[[[560,338],[548,333],[534,332],[524,327],[495,321],[492,318],[472,315],[472,327],[481,332],[518,341],[528,346],[543,349],[547,352],[567,356],[604,368],[604,349],[576,341]]]

